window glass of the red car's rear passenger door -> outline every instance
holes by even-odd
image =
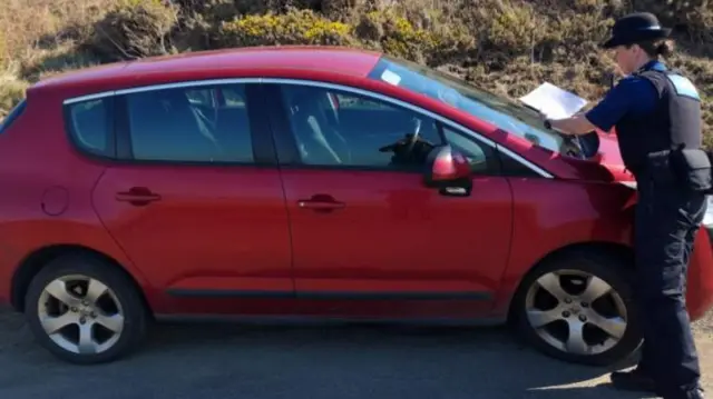
[[[229,107],[223,106],[229,93]],[[169,88],[126,94],[136,160],[252,162],[245,86]]]

